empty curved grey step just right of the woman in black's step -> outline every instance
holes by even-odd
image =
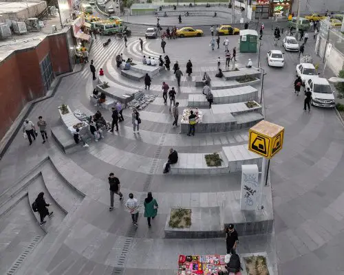
[[[84,196],[68,184],[52,164],[48,163],[43,166],[41,173],[45,187],[63,212],[72,212],[80,205]]]

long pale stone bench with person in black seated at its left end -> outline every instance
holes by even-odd
[[[178,162],[171,164],[170,172],[182,175],[219,175],[238,172],[243,164],[257,164],[261,167],[261,157],[248,151],[247,145],[225,146],[217,153],[222,159],[221,166],[212,167],[206,165],[207,153],[179,153]]]

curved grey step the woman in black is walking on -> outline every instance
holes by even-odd
[[[51,218],[45,217],[45,221],[47,221],[44,225],[41,225],[41,228],[44,230],[44,232],[51,232],[54,229],[58,228],[58,225],[61,224],[63,219],[65,218],[65,212],[61,209],[60,206],[54,201],[52,196],[50,196],[49,191],[45,187],[43,177],[40,175],[37,177],[32,184],[28,187],[28,195],[29,195],[29,207],[31,208],[32,203],[36,199],[37,195],[39,195],[40,192],[44,192],[45,202],[50,203],[51,205],[48,207],[49,212],[54,212]],[[39,212],[34,212],[31,208],[32,213],[34,214],[34,217],[36,217],[36,220],[38,223],[40,223],[41,219],[39,218]]]

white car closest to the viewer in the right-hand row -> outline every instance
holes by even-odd
[[[335,106],[334,94],[326,78],[310,78],[305,82],[305,89],[312,92],[311,104],[318,107]]]

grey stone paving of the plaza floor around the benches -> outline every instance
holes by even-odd
[[[341,274],[344,270],[340,256],[344,246],[343,129],[333,110],[312,108],[311,113],[303,112],[303,98],[295,96],[292,87],[297,54],[286,53],[283,69],[270,68],[266,66],[265,54],[273,48],[273,40],[271,36],[264,39],[261,65],[268,73],[264,80],[266,118],[286,127],[283,150],[271,162],[275,236],[241,237],[238,250],[239,253],[267,252],[270,261],[276,263],[276,239],[279,274],[297,274],[300,271],[303,274]],[[184,67],[192,56],[195,60],[193,76],[202,74],[202,68],[215,72],[219,52],[209,50],[208,38],[199,40],[201,43],[197,50],[189,41],[196,40],[168,41],[166,49],[170,51],[171,61],[178,59]],[[127,50],[117,41],[103,49],[98,39],[92,46],[90,57],[94,59],[97,69],[104,65],[111,66],[107,60],[118,52],[126,55],[131,51],[130,54],[135,55],[134,60],[140,61],[142,54],[136,40],[130,39],[129,43],[132,45]],[[234,45],[234,41],[232,43]],[[307,50],[311,50],[311,43],[313,41],[308,41]],[[159,52],[159,41],[144,43],[144,53],[153,55]],[[246,63],[248,58],[257,63],[253,54],[238,54],[237,58],[238,63]],[[173,73],[164,72],[153,78],[152,87],[155,89],[151,93],[160,92],[161,80],[165,78],[170,87],[173,83],[175,85]],[[120,75],[114,76],[113,80],[125,87],[142,87],[142,83],[130,83]],[[191,80],[183,78],[177,100],[187,100],[191,91],[200,91],[192,84]],[[94,85],[88,66],[79,74],[63,78],[54,98],[35,104],[29,118],[36,121],[39,115],[43,115],[52,127],[61,124],[57,112],[61,104],[67,103],[71,109],[87,113],[96,111],[88,98]],[[120,131],[114,136],[108,134],[98,144],[92,142],[89,151],[67,156],[51,139],[41,144],[38,137],[29,147],[21,133],[14,138],[1,159],[0,193],[14,188],[16,181],[49,155],[50,162],[58,168],[58,177],[86,195],[76,203],[78,207],[71,208],[62,223],[47,228],[47,235],[26,259],[18,274],[175,274],[178,254],[225,253],[223,239],[164,239],[169,206],[165,198],[173,201],[175,197],[182,197],[185,205],[194,207],[205,201],[208,204],[206,207],[216,206],[213,204],[218,202],[219,194],[238,192],[240,175],[164,176],[161,164],[171,146],[180,153],[215,151],[222,146],[246,144],[247,130],[199,134],[191,140],[172,129],[168,107],[161,104],[161,93],[159,98],[156,104],[149,104],[142,112],[144,119],[140,135],[131,133],[131,111],[125,110],[125,122],[120,124]],[[109,111],[102,112],[110,120]],[[160,120],[160,117],[164,119]],[[151,174],[153,159],[158,159],[158,162]],[[162,204],[162,212],[153,221],[151,229],[147,228],[141,215],[138,228],[134,228],[118,199],[115,210],[108,211],[107,175],[110,171],[120,177],[125,196],[133,190],[142,203],[147,190],[156,194],[158,203]],[[28,177],[22,181],[25,179]],[[67,184],[63,180],[57,182]],[[64,197],[63,192],[58,190],[61,189],[53,192],[56,201]],[[30,243],[33,235],[44,234],[31,213],[26,197],[0,217],[1,228],[14,228],[0,232],[1,248],[6,255],[1,258],[1,274],[25,247],[10,240],[17,238],[26,244]],[[21,218],[24,216],[25,219]],[[28,225],[24,228],[25,223]]]

